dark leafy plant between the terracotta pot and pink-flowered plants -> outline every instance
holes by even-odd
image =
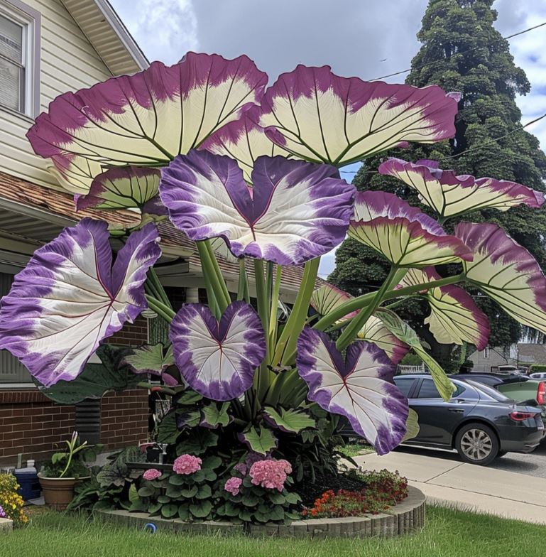
[[[130,509],[131,487],[142,475],[142,470],[131,469],[128,463],[143,462],[145,457],[138,447],[128,447],[110,455],[109,463],[92,470],[92,477],[75,487],[75,497],[68,509]],[[134,491],[134,490],[133,490]]]

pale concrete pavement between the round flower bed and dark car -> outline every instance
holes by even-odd
[[[398,470],[432,504],[546,524],[545,478],[403,452],[354,460],[368,470]]]

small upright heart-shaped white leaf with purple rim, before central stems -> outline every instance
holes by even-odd
[[[182,377],[216,401],[241,396],[266,355],[261,320],[241,301],[228,305],[219,323],[206,305],[185,304],[170,325],[169,337]]]

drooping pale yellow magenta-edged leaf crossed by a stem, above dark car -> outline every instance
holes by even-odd
[[[434,267],[409,269],[400,286],[437,281],[442,277]],[[484,350],[489,340],[489,320],[472,297],[460,286],[436,286],[423,293],[430,304],[430,315],[425,319],[438,342],[462,345],[468,342]]]

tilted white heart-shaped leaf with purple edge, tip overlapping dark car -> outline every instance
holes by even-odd
[[[393,384],[395,367],[381,348],[354,342],[344,361],[327,335],[306,327],[297,340],[296,365],[309,386],[308,398],[345,416],[379,455],[400,443],[408,399]]]

